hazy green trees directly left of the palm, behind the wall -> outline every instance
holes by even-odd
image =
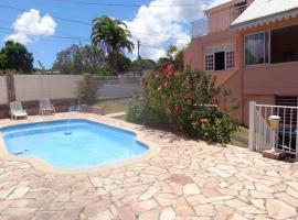
[[[89,45],[76,45],[57,53],[56,61],[52,69],[61,74],[83,74],[105,75],[105,54],[102,50]]]

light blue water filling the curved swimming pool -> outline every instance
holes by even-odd
[[[8,152],[62,168],[85,168],[136,157],[148,147],[135,133],[88,120],[60,120],[2,128]]]

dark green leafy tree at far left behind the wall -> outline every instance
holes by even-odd
[[[33,72],[33,56],[22,44],[6,42],[0,51],[0,69],[14,69],[21,73]]]

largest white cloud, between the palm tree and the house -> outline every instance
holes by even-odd
[[[152,0],[149,6],[139,8],[135,18],[126,23],[131,31],[132,38],[140,40],[143,45],[140,51],[141,56],[158,59],[164,55],[164,48],[169,44],[175,44],[179,47],[185,46],[191,40],[190,23],[203,19],[203,10],[209,3],[210,0],[199,0],[195,3],[194,1],[185,2],[185,0]],[[169,4],[178,7],[157,7]],[[183,7],[181,4],[195,6]],[[136,55],[136,53],[135,50],[134,54]]]

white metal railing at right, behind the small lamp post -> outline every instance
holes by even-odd
[[[298,107],[249,103],[248,145],[253,151],[281,151],[298,156]],[[278,116],[279,127],[274,130],[268,118]]]

